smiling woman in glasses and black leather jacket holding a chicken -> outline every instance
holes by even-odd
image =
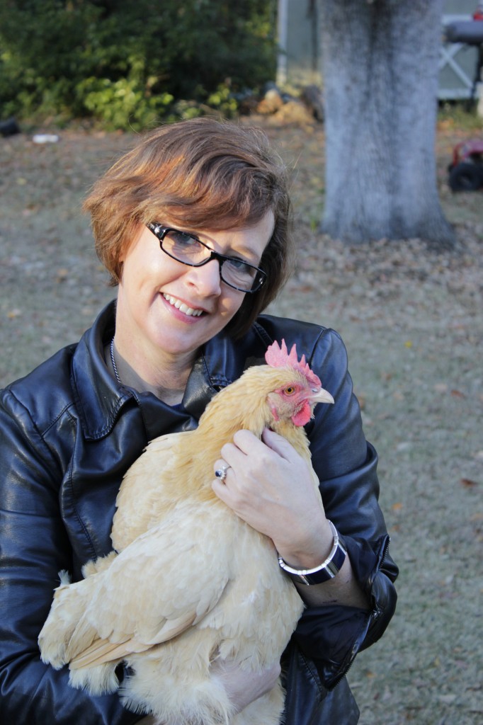
[[[397,569],[377,503],[376,452],[363,436],[339,336],[260,316],[292,266],[281,163],[260,131],[186,121],[142,139],[85,207],[117,301],[78,344],[1,394],[1,721],[142,718],[117,695],[89,697],[67,684],[66,668],[41,663],[37,637],[58,572],[78,580],[86,561],[110,551],[117,490],[146,443],[197,426],[212,395],[284,338],[336,401],[327,415],[315,408],[307,426],[321,499],[272,431],[261,442],[239,431],[220,451],[215,468],[229,468],[223,480],[213,471],[212,485],[273,539],[307,604],[281,663],[287,724],[356,723],[344,674],[392,617]],[[347,556],[339,547],[321,566],[334,543],[329,519]],[[310,582],[300,569],[316,570]],[[234,662],[216,667],[238,710],[278,676],[278,668],[247,678]]]

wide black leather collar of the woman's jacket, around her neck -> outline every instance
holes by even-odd
[[[183,407],[180,413],[165,405],[153,394],[138,394],[120,386],[108,370],[104,347],[110,343],[115,330],[115,301],[104,307],[94,325],[80,339],[72,363],[72,386],[75,405],[86,439],[98,440],[112,431],[121,408],[129,402],[141,409],[154,407],[156,414],[173,417],[173,423],[184,415],[186,427],[197,424],[210,399],[221,389],[239,378],[250,365],[263,363],[271,339],[260,325],[253,326],[247,336],[234,341],[223,331],[208,341],[191,370]],[[191,423],[188,420],[191,418]]]

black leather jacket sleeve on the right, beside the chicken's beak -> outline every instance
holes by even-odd
[[[340,605],[307,608],[300,619],[294,642],[315,664],[323,687],[331,689],[358,651],[376,642],[389,624],[397,567],[388,554],[389,536],[378,503],[377,455],[363,434],[339,335],[323,330],[308,363],[335,401],[315,407],[307,427],[313,467],[326,516],[342,534],[352,571],[371,606],[369,611]]]

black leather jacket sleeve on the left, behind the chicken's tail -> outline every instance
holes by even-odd
[[[37,637],[72,554],[59,515],[59,463],[8,390],[0,401],[0,722],[129,725],[117,695],[90,697],[41,662]]]

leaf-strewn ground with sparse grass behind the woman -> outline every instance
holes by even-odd
[[[463,133],[440,128],[438,185],[461,252],[421,241],[344,247],[316,228],[323,128],[265,125],[294,167],[297,272],[272,311],[334,327],[350,355],[381,504],[400,564],[384,639],[350,683],[360,725],[483,720],[483,193],[454,196],[446,167]],[[76,341],[114,296],[80,204],[134,136],[62,131],[57,144],[0,139],[0,385]]]

